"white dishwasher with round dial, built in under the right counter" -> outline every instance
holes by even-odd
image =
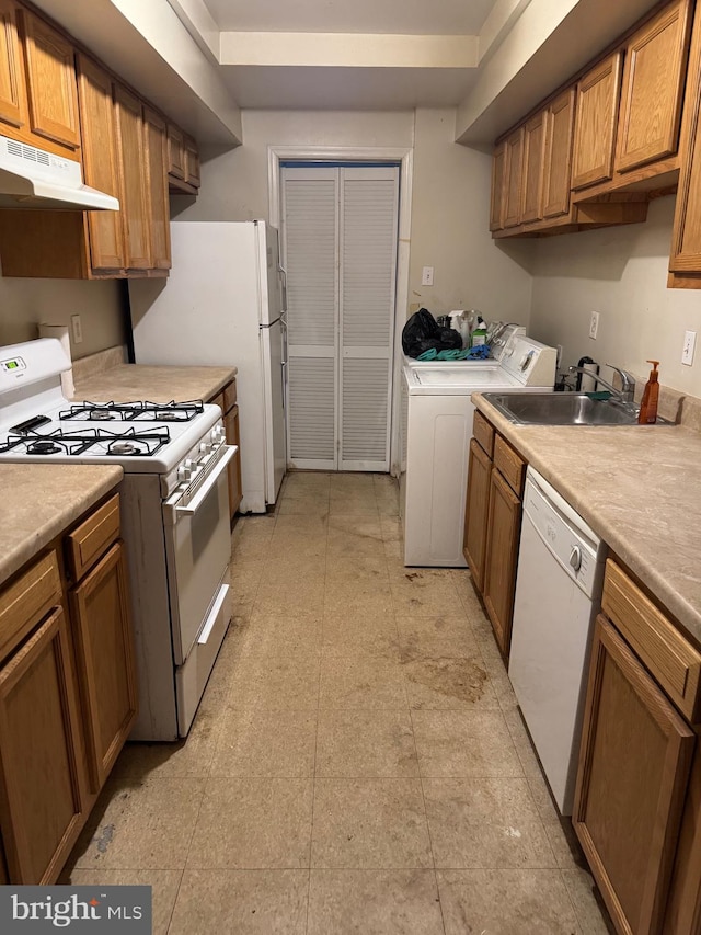
[[[572,814],[606,546],[528,468],[508,674],[562,814]]]

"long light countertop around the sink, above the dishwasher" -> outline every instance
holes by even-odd
[[[472,401],[701,645],[701,434],[515,425]]]

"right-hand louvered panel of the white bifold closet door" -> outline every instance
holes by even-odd
[[[341,470],[389,470],[399,169],[341,169]]]

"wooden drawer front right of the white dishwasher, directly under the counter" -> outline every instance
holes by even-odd
[[[698,722],[701,654],[611,559],[601,607],[679,710]]]

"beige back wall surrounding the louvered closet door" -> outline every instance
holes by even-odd
[[[414,149],[410,307],[434,315],[479,308],[527,322],[530,275],[524,244],[496,246],[487,230],[491,159],[458,146],[453,110],[398,113],[243,112],[244,145],[203,164],[202,194],[171,199],[173,220],[268,217],[268,146]],[[422,287],[424,265],[434,286]]]

